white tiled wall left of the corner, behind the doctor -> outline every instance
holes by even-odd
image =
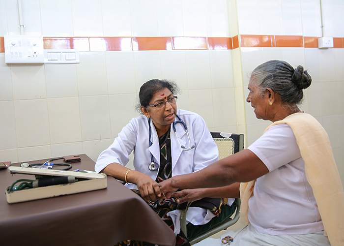
[[[22,2],[25,33],[42,34],[46,48],[47,37],[81,37],[75,42],[81,62],[9,66],[0,53],[1,160],[76,153],[95,160],[139,115],[138,89],[152,78],[175,81],[178,107],[201,114],[211,130],[237,132],[231,50],[212,50],[219,40],[205,38],[229,37],[227,0]],[[18,25],[17,1],[0,0],[0,37],[19,34]],[[134,45],[111,51],[92,38],[112,36],[127,36]],[[140,36],[176,37],[177,47],[143,51],[147,40]],[[178,36],[204,37],[206,47],[180,47]]]

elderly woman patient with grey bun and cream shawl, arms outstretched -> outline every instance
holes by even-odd
[[[240,197],[248,226],[232,235],[230,246],[344,246],[344,192],[327,133],[297,106],[311,81],[302,66],[259,65],[247,102],[272,124],[247,149],[174,176],[160,190],[178,202]]]

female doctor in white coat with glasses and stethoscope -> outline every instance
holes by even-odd
[[[99,155],[95,171],[103,171],[136,190],[179,233],[177,245],[188,245],[180,231],[178,204],[173,198],[163,199],[158,183],[210,165],[217,161],[218,150],[200,115],[177,110],[177,90],[174,83],[165,80],[144,83],[139,93],[143,116],[132,119]],[[125,167],[133,150],[135,170]],[[187,221],[201,225],[214,216],[210,210],[193,207],[187,213]]]

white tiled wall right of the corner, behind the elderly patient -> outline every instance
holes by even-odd
[[[305,90],[301,108],[315,116],[328,132],[344,181],[344,1],[323,0],[322,3],[324,36],[337,37],[337,48],[317,49],[312,38],[305,38],[302,44],[302,36],[321,36],[319,0],[237,1],[243,85],[246,89],[250,73],[258,64],[271,59],[308,69],[313,83]],[[277,45],[276,35],[289,36],[282,38],[289,42],[287,47],[281,42]],[[247,103],[245,112],[247,139],[251,144],[269,123],[257,120]]]

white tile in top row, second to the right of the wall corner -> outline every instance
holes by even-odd
[[[260,34],[282,34],[282,0],[259,1]]]

